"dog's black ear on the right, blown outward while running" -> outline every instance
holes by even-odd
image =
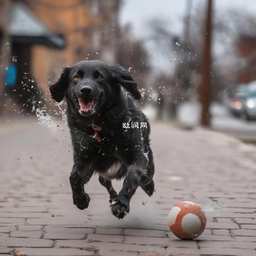
[[[127,91],[129,91],[133,98],[140,99],[141,95],[137,88],[137,83],[133,79],[133,75],[127,69],[121,66],[111,66],[113,72],[113,79],[116,84],[122,85]]]

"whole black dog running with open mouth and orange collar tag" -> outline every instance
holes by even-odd
[[[154,192],[150,126],[134,103],[141,95],[131,72],[102,61],[81,61],[63,69],[50,93],[57,102],[66,98],[74,151],[70,175],[74,204],[81,210],[88,207],[84,184],[97,172],[110,195],[112,213],[123,218],[138,186],[149,196]],[[123,177],[117,195],[111,179]]]

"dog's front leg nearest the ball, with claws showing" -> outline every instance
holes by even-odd
[[[143,169],[139,165],[131,165],[128,168],[127,175],[123,181],[123,188],[111,203],[112,213],[117,218],[122,219],[129,212],[131,197],[139,186],[142,176]]]

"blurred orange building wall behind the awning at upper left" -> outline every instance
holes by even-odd
[[[102,21],[92,16],[88,1],[28,2],[32,11],[52,32],[62,34],[66,39],[66,47],[61,50],[44,46],[34,46],[32,49],[32,73],[38,84],[48,93],[48,84],[58,78],[61,67],[86,59],[91,42],[88,41],[85,30],[99,26]]]

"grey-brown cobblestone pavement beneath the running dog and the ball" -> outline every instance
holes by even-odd
[[[1,255],[256,255],[256,147],[152,123],[156,192],[149,198],[138,188],[130,214],[118,220],[96,176],[85,188],[89,208],[73,205],[72,149],[61,126],[52,136],[33,120],[1,124]],[[207,215],[193,241],[176,238],[167,225],[181,200],[202,204]]]

